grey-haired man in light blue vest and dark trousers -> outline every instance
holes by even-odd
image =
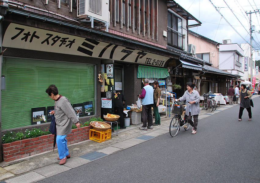
[[[154,104],[154,89],[149,85],[149,80],[143,80],[143,89],[141,95],[138,95],[142,99],[142,120],[143,126],[139,127],[140,130],[153,129],[153,115],[152,115],[152,105]],[[147,126],[148,122],[148,126]]]

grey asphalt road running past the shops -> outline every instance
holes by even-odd
[[[182,128],[43,179],[49,182],[260,182],[260,98],[253,120],[239,105],[199,121],[197,134]]]

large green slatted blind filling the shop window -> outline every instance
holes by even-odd
[[[71,104],[93,101],[95,113],[95,66],[24,58],[3,58],[2,129],[31,125],[31,108],[53,106],[45,90],[55,84]]]

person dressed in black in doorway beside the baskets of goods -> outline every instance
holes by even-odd
[[[122,92],[114,91],[114,108],[116,111],[116,114],[120,116],[119,122],[120,122],[120,129],[124,129],[124,95]]]

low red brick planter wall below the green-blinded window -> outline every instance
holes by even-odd
[[[67,144],[75,144],[89,139],[91,126],[72,129],[67,135]],[[53,149],[54,135],[43,135],[35,138],[23,139],[7,144],[3,144],[3,160],[13,161],[27,156],[32,156],[41,152]],[[57,145],[55,146],[57,148]]]

